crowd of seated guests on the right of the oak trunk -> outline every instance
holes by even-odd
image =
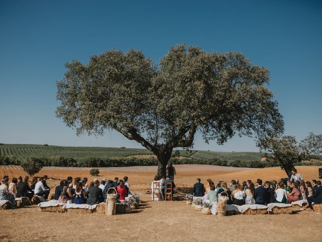
[[[198,178],[193,186],[192,194],[195,197],[209,200],[211,203],[217,202],[219,196],[226,196],[228,197],[227,204],[239,206],[244,204],[287,204],[302,199],[308,202],[303,209],[308,207],[312,209],[312,203],[322,204],[321,181],[300,180],[302,178],[296,170],[293,170],[291,179],[282,178],[279,181],[265,181],[264,184],[262,179],[257,179],[255,184],[252,180],[239,184],[238,180],[233,179],[230,181],[229,188],[225,181],[219,181],[215,186],[211,179],[207,179],[207,184],[204,186]]]

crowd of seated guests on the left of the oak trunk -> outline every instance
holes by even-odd
[[[29,177],[13,178],[9,183],[9,177],[4,176],[2,183],[0,183],[0,200],[9,200],[14,207],[16,206],[16,198],[28,197],[30,200],[34,195],[43,197],[48,200],[50,188],[47,186],[47,175],[40,177],[33,177],[29,186]],[[101,182],[94,179],[90,185],[87,177],[81,179],[80,177],[72,178],[68,176],[67,179],[62,179],[59,185],[55,187],[53,199],[60,203],[75,203],[75,204],[99,204],[106,201],[106,194],[109,188],[115,188],[117,191],[117,199],[124,203],[125,198],[131,194],[129,191],[130,185],[128,177],[124,180],[119,180],[115,177],[113,180],[103,179]]]

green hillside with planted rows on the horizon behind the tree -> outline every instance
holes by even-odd
[[[180,156],[193,159],[209,160],[217,158],[226,161],[250,161],[260,160],[263,156],[259,152],[215,152],[198,150],[180,150]],[[173,151],[175,153],[175,150]],[[44,146],[27,144],[4,144],[0,145],[0,156],[13,155],[20,160],[28,157],[50,157],[62,156],[74,159],[83,159],[88,157],[97,158],[125,158],[131,155],[149,155],[152,154],[146,149],[132,148],[111,148],[111,147],[67,147],[67,146]]]

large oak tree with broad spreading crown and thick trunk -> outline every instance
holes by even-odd
[[[157,156],[159,176],[196,132],[218,144],[236,133],[260,141],[283,132],[268,70],[242,53],[176,45],[156,66],[141,51],[113,49],[65,66],[57,116],[77,134],[116,130],[135,140]]]

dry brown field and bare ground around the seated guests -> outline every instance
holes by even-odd
[[[153,168],[153,167],[152,167]],[[305,180],[317,178],[317,166],[296,167]],[[286,173],[278,167],[240,169],[207,165],[177,165],[176,201],[150,202],[150,183],[156,170],[151,167],[120,167],[101,171],[100,178],[129,176],[132,193],[141,194],[143,203],[131,214],[68,214],[40,212],[36,207],[0,210],[0,241],[321,241],[322,215],[298,211],[291,215],[234,215],[217,218],[193,210],[180,199],[200,177],[202,181],[262,178],[279,179]],[[4,173],[17,177],[22,170]],[[68,175],[90,177],[86,170],[42,170],[56,179]],[[58,180],[48,184],[54,187]]]

